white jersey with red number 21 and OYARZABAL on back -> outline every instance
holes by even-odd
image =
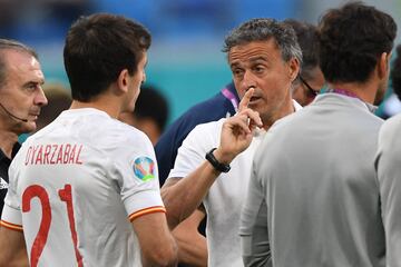
[[[76,109],[23,144],[1,225],[23,229],[38,266],[141,266],[130,221],[155,211],[165,208],[149,139],[102,111]]]

